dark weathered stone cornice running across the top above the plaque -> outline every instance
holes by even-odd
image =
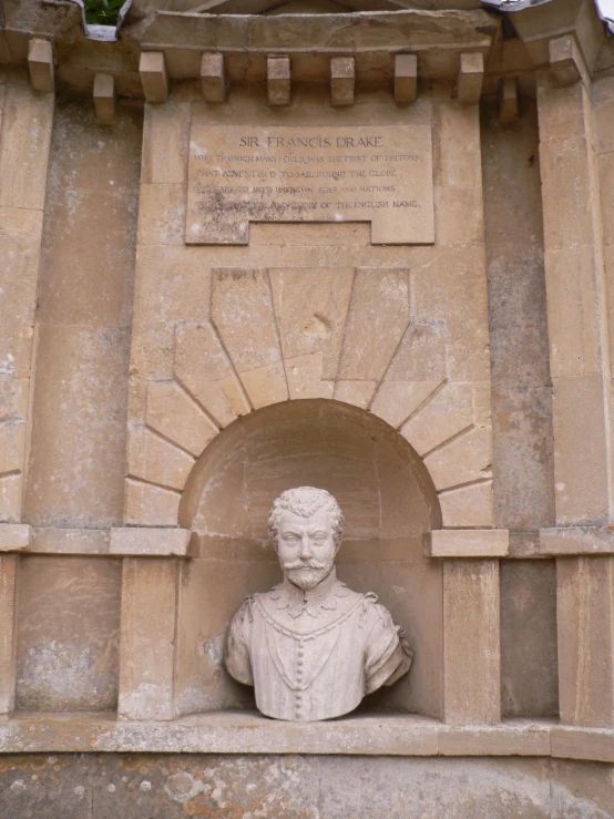
[[[131,11],[116,41],[98,42],[89,39],[82,9],[72,0],[6,0],[0,62],[24,65],[31,40],[48,40],[53,45],[51,65],[62,84],[82,93],[104,73],[113,79],[116,95],[143,99],[139,62],[151,52],[164,55],[171,81],[199,80],[203,53],[219,54],[231,84],[265,82],[267,57],[275,55],[290,59],[293,82],[327,82],[330,59],[351,57],[357,89],[389,85],[399,54],[417,59],[419,80],[458,83],[463,53],[482,57],[482,93],[494,94],[502,79],[549,64],[553,40],[571,38],[589,73],[611,44],[593,0],[514,8],[513,14],[508,10],[228,14],[149,6],[146,13],[137,13],[136,7]],[[518,37],[503,34],[504,19]],[[115,37],[114,29],[111,33]]]

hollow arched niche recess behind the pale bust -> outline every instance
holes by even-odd
[[[441,567],[424,556],[426,533],[441,525],[436,489],[391,427],[324,399],[278,403],[235,421],[192,470],[180,505],[180,524],[194,532],[194,557],[182,570],[177,711],[254,707],[252,689],[224,669],[224,632],[244,597],[280,581],[268,511],[283,490],[304,484],[329,490],[344,510],[340,580],[378,594],[416,649],[409,677],[361,707],[440,717]]]

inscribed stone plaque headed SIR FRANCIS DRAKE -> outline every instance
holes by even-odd
[[[228,127],[196,120],[186,242],[245,245],[249,222],[370,222],[372,244],[431,244],[430,127]]]

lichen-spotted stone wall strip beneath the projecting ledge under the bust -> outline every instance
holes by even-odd
[[[613,768],[539,759],[4,757],[0,810],[37,819],[608,819]]]

